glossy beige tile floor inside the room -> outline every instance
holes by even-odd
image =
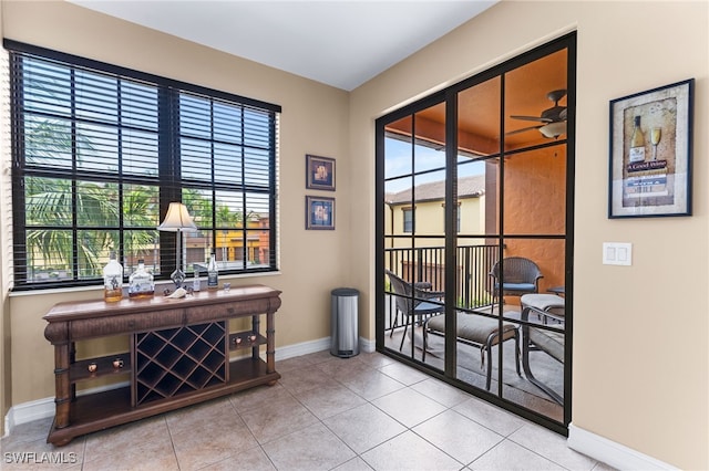
[[[277,362],[276,386],[45,443],[0,442],[2,470],[609,470],[563,437],[377,353]],[[24,462],[21,461],[22,458]]]

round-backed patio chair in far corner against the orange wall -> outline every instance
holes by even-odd
[[[528,293],[540,292],[540,279],[544,278],[542,271],[530,259],[524,257],[508,257],[503,259],[502,285],[501,264],[495,262],[490,276],[493,278],[493,303],[499,296],[522,296]]]

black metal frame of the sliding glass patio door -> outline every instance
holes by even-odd
[[[564,419],[562,422],[544,416],[534,410],[522,407],[504,397],[482,390],[466,383],[456,380],[450,371],[455,369],[456,365],[456,348],[455,342],[445,343],[445,366],[444,371],[441,373],[438,369],[427,367],[424,364],[400,354],[397,350],[389,349],[384,346],[384,328],[386,328],[386,300],[384,300],[384,126],[397,119],[401,119],[405,116],[413,115],[418,111],[425,109],[427,107],[445,103],[446,118],[445,118],[445,134],[446,134],[446,197],[445,197],[445,247],[455,247],[456,230],[456,181],[458,181],[458,107],[456,97],[458,94],[475,84],[482,83],[495,76],[502,76],[504,81],[504,74],[514,69],[517,69],[528,62],[541,59],[553,52],[566,50],[567,51],[567,108],[569,113],[567,115],[567,132],[566,132],[566,231],[564,237],[565,242],[565,287],[566,287],[566,321],[565,321],[565,362],[564,362]],[[573,280],[573,253],[574,253],[574,178],[575,178],[575,108],[576,108],[576,32],[568,33],[556,40],[553,40],[546,44],[537,46],[526,53],[523,53],[516,57],[513,57],[504,63],[491,67],[480,74],[461,81],[448,88],[429,95],[422,100],[411,103],[400,109],[397,109],[386,116],[382,116],[376,122],[376,198],[377,198],[377,219],[376,219],[376,271],[374,271],[374,285],[376,285],[376,348],[378,352],[394,357],[398,360],[409,364],[418,369],[425,371],[427,374],[442,379],[462,390],[465,390],[474,396],[487,400],[496,406],[500,406],[506,410],[510,410],[521,417],[530,419],[536,423],[540,423],[553,431],[568,435],[568,425],[572,418],[572,345],[573,345],[573,304],[574,304],[574,280]],[[503,82],[504,83],[504,82]],[[503,87],[504,90],[504,87]],[[502,93],[502,102],[504,105],[504,92]],[[502,107],[504,109],[504,106]],[[504,123],[502,122],[504,116],[501,115],[501,129],[504,129]],[[559,139],[561,142],[561,139]],[[558,145],[558,142],[551,143],[549,145]],[[545,147],[542,145],[538,147]],[[524,150],[530,150],[525,148]],[[501,149],[501,157],[505,155],[514,154],[515,151],[504,151]],[[504,159],[501,159],[504,166]],[[501,205],[501,203],[500,203]],[[502,214],[500,214],[502,218]],[[502,238],[504,234],[500,234]],[[502,248],[500,249],[500,258],[502,258]],[[454,250],[445,251],[445,264],[446,266],[455,266],[456,253]],[[448,293],[455,293],[455,276],[445,276],[445,291]],[[446,338],[455,338],[455,307],[454,303],[446,303]],[[502,317],[501,317],[502,322]],[[502,359],[502,352],[500,352],[500,358]]]

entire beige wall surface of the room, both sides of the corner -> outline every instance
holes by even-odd
[[[282,274],[243,281],[284,291],[279,346],[329,335],[329,290],[337,285],[360,289],[360,335],[374,337],[374,119],[577,30],[573,422],[678,468],[709,468],[707,2],[505,1],[350,94],[63,2],[3,0],[1,14],[7,38],[282,105]],[[608,101],[688,77],[697,78],[701,130],[695,216],[608,220]],[[338,159],[336,231],[304,230],[306,153]],[[634,265],[603,265],[604,241],[633,242]],[[99,295],[12,297],[0,324],[6,345],[12,325],[11,369],[2,364],[0,371],[11,388],[3,411],[53,395],[47,308]]]

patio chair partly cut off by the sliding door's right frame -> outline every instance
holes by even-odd
[[[564,405],[564,398],[532,374],[530,353],[541,350],[559,363],[564,363],[564,299],[555,294],[525,294],[522,303],[522,321],[528,322],[530,314],[542,317],[543,324],[522,326],[522,368],[530,383],[546,393],[555,402]],[[552,321],[552,322],[549,322]]]

